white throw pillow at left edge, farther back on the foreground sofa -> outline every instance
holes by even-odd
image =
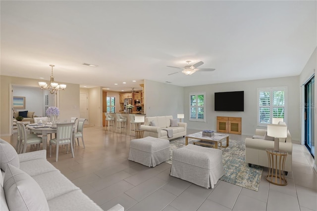
[[[0,139],[0,168],[5,171],[8,163],[20,168],[19,157],[14,147],[8,142]]]

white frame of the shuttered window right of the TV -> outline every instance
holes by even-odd
[[[287,124],[287,86],[276,86],[276,87],[263,87],[263,88],[258,88],[257,90],[257,126],[259,127],[266,127],[267,124],[265,123],[260,123],[260,91],[284,91],[284,121]],[[272,95],[270,95],[271,97]],[[272,100],[270,98],[270,100]],[[271,101],[270,101],[271,102]],[[270,103],[270,117],[272,117],[272,104]],[[270,119],[270,123],[272,123],[272,118]]]

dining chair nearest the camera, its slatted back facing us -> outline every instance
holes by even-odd
[[[73,130],[74,130],[74,123],[56,124],[56,138],[53,138],[50,140],[50,158],[52,157],[52,145],[56,145],[56,162],[57,162],[59,145],[66,145],[66,150],[68,154],[67,144],[70,144],[71,154],[74,158]]]

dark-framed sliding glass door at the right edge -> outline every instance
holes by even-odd
[[[315,158],[315,76],[305,84],[305,146]]]

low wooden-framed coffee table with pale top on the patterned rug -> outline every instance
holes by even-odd
[[[194,141],[194,144],[201,144],[205,146],[210,146],[215,149],[218,149],[218,144],[220,143],[220,147],[227,148],[229,146],[229,135],[214,133],[212,136],[203,136],[203,132],[196,132],[193,134],[189,134],[185,136],[185,145],[188,144],[188,138],[198,139],[201,141]],[[222,146],[221,141],[226,139],[227,143],[225,146]]]

